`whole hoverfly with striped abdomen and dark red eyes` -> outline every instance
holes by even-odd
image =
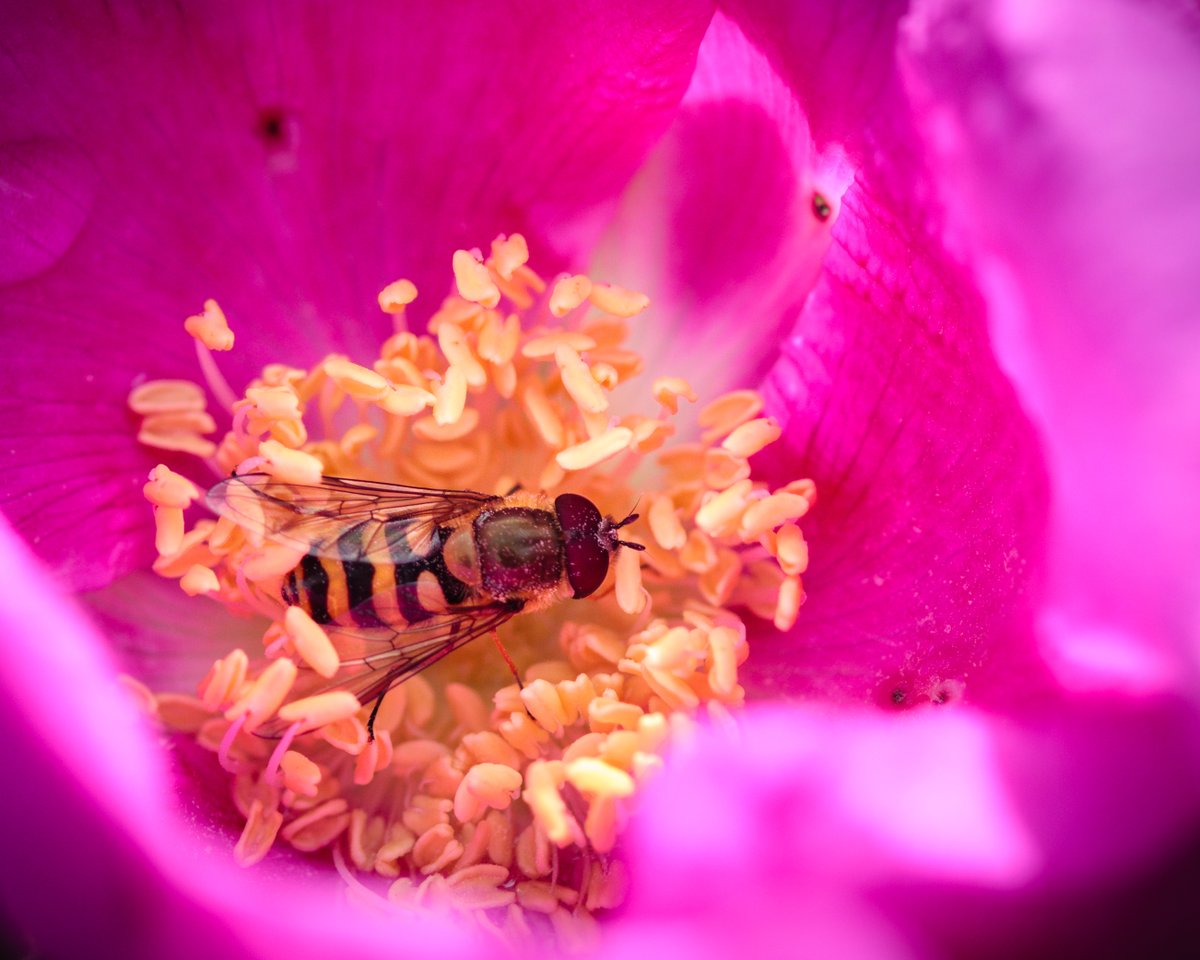
[[[517,613],[592,595],[620,547],[644,548],[618,536],[636,514],[614,521],[577,493],[499,497],[337,476],[305,486],[251,473],[217,484],[208,503],[301,554],[282,599],[334,641],[341,666],[324,689],[374,701],[372,739],[392,686]],[[280,725],[259,732],[278,736]]]

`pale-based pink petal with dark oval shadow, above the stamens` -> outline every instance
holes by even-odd
[[[829,244],[814,194],[835,205],[842,190],[793,92],[718,14],[592,270],[649,294],[632,343],[655,373],[684,374],[712,398],[769,370]]]

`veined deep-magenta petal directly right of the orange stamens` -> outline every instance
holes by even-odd
[[[912,149],[881,134],[764,388],[769,473],[812,476],[818,502],[802,622],[746,665],[761,690],[912,706],[1040,683],[1040,454]]]

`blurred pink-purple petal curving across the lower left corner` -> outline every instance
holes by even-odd
[[[2,520],[0,569],[2,812],[14,826],[0,895],[36,955],[103,943],[134,958],[319,958],[395,942],[413,956],[482,955],[444,917],[347,905],[328,866],[272,853],[239,868],[224,781],[209,778],[209,793],[221,790],[200,797],[197,781],[163,768],[174,755],[118,684],[104,640]]]

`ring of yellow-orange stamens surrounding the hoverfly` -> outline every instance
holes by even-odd
[[[229,403],[218,442],[199,386],[143,384],[130,396],[139,438],[196,455],[215,478],[332,475],[502,496],[521,485],[582,493],[616,516],[637,500],[641,520],[622,536],[644,551],[622,548],[593,596],[500,629],[523,686],[476,641],[392,689],[371,740],[372,704],[317,692],[336,686],[338,648],[281,599],[298,547],[227,517],[185,529],[202,491],[160,466],[145,486],[155,570],[266,625],[262,649],[226,653],[194,696],[138,692],[230,773],[242,864],[281,844],[328,848],[354,896],[456,911],[510,941],[548,932],[586,946],[595,914],[622,900],[613,851],[640,785],[676,736],[697,719],[727,722],[744,701],[746,630],[733,611],[794,623],[808,565],[798,522],[815,487],[752,479],[749,457],[780,436],[754,391],[702,407],[700,439],[688,443],[668,444],[680,403],[697,400],[679,377],[655,379],[641,410],[617,409],[613,389],[643,367],[624,346],[643,295],[582,275],[546,283],[518,235],[486,257],[457,251],[452,266],[426,334],[406,329],[418,292],[396,281],[379,306],[398,332],[378,358],[265,367]],[[187,331],[220,398],[228,388],[214,383],[209,352],[232,346],[224,314],[209,301]],[[288,734],[254,736],[272,720]]]

